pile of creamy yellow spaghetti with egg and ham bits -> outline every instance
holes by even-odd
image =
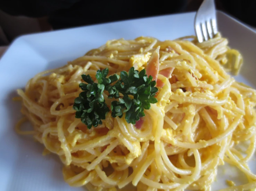
[[[25,91],[19,89],[25,117],[16,131],[33,134],[44,153],[59,155],[64,179],[74,187],[210,190],[218,166],[227,162],[244,172],[248,183],[224,190],[256,188],[256,175],[247,165],[256,144],[256,90],[226,72],[237,73],[242,63],[227,44],[219,34],[203,43],[193,36],[108,41],[61,68],[37,74]],[[110,112],[91,129],[75,118],[81,74],[96,80],[98,69],[108,68],[109,75],[132,66],[140,71],[153,55],[159,64],[158,102],[145,110],[141,128]],[[110,107],[114,99],[107,92],[104,98]],[[20,129],[26,119],[33,131]],[[235,148],[245,141],[246,151]]]

